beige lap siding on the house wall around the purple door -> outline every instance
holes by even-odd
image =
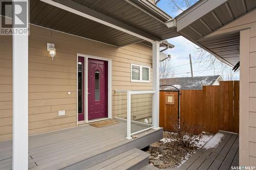
[[[53,61],[47,42],[55,43]],[[112,59],[113,117],[126,115],[126,94],[120,90],[151,90],[151,83],[131,82],[131,63],[152,67],[152,48],[140,43],[115,47],[30,25],[29,135],[77,125],[77,53]],[[68,91],[71,92],[68,95]],[[140,101],[141,110],[151,108]],[[58,116],[58,110],[66,110]],[[150,110],[148,110],[150,111]],[[142,112],[140,112],[142,114]],[[143,112],[145,114],[145,112]],[[0,141],[12,138],[12,37],[0,38]]]

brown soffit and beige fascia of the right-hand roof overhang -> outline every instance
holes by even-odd
[[[176,17],[177,31],[221,61],[234,66],[239,61],[239,32],[221,37],[207,36],[255,7],[254,0],[201,0]]]

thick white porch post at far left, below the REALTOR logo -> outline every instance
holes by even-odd
[[[15,8],[13,7],[12,16],[15,16],[14,13]],[[12,169],[28,169],[28,35],[13,34],[12,37]]]

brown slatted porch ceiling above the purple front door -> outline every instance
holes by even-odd
[[[134,0],[67,0],[52,2],[66,5],[80,12],[96,12],[99,17],[113,19],[121,26],[153,40],[179,36],[165,22],[171,17],[156,12],[147,1]],[[72,5],[72,6],[71,6]],[[159,9],[158,9],[159,10]],[[103,25],[94,20],[57,8],[39,0],[30,1],[30,22],[34,25],[89,38],[115,46],[144,41],[141,38]]]

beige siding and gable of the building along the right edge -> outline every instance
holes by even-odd
[[[210,36],[240,31],[239,163],[256,166],[256,10]]]

